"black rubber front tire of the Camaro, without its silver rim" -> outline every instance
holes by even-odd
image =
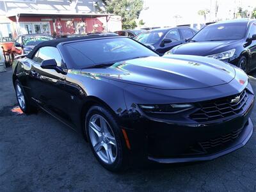
[[[95,149],[92,145],[92,140],[90,138],[89,133],[89,122],[93,115],[100,115],[102,116],[108,124],[111,126],[111,130],[113,132],[113,135],[115,136],[116,140],[116,159],[112,164],[105,163],[100,159],[97,152],[95,152]],[[92,148],[93,154],[96,157],[96,159],[99,161],[100,164],[107,170],[111,172],[120,172],[122,170],[125,170],[127,168],[127,148],[125,145],[124,135],[122,134],[121,129],[118,127],[118,123],[116,122],[115,117],[111,114],[111,112],[102,107],[102,106],[92,106],[88,110],[88,113],[86,114],[85,118],[85,131],[88,138],[88,142],[90,143],[90,147]]]

